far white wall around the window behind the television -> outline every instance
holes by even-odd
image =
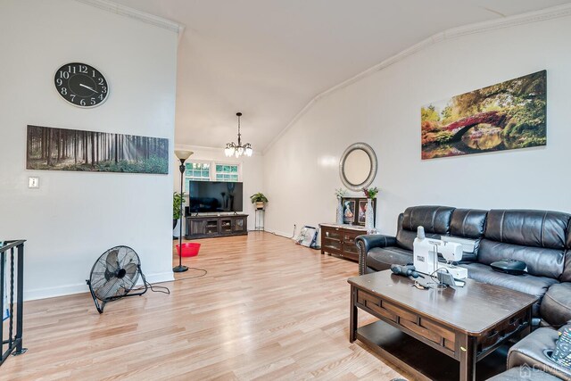
[[[228,137],[231,138],[231,137]],[[255,147],[254,147],[255,148]],[[188,158],[188,162],[223,162],[229,164],[240,164],[242,170],[241,181],[244,183],[244,213],[248,214],[248,230],[255,227],[255,213],[250,196],[263,192],[263,158],[260,153],[254,153],[251,157],[226,157],[224,148],[201,147],[194,145],[177,145],[176,149],[192,151],[193,154]],[[179,161],[177,160],[177,163]],[[180,171],[178,165],[176,168],[174,180],[174,190],[180,192]],[[173,236],[178,236],[179,227],[174,228]],[[183,235],[185,230],[183,227]]]

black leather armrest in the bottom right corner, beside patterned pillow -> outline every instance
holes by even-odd
[[[571,369],[551,361],[543,354],[543,350],[555,348],[558,338],[559,333],[555,329],[537,328],[509,348],[508,369],[525,365],[532,369],[541,369],[564,380],[571,380]]]

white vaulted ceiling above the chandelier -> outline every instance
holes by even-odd
[[[177,145],[261,153],[336,84],[435,33],[568,0],[114,0],[185,26]]]

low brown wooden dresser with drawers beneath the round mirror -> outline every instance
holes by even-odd
[[[360,225],[319,224],[321,229],[321,253],[336,255],[351,261],[359,261],[355,238],[367,234]]]

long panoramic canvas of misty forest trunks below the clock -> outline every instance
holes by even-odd
[[[169,173],[169,139],[28,126],[28,170]]]

